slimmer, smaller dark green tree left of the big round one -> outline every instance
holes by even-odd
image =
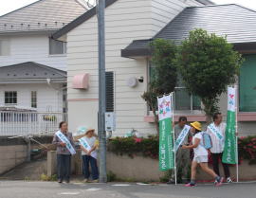
[[[151,75],[148,90],[144,92],[142,99],[145,99],[153,111],[155,127],[157,132],[159,132],[156,97],[174,92],[177,81],[177,68],[175,64],[177,46],[174,45],[174,42],[163,39],[156,39],[151,45],[153,49],[151,60],[154,65],[153,75]]]

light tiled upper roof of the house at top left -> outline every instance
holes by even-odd
[[[0,16],[0,33],[57,30],[84,11],[77,0],[39,0]]]

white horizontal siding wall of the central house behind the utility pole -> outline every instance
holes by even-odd
[[[163,2],[162,9],[153,9],[152,6],[156,7],[158,2]],[[144,100],[141,99],[147,87],[147,61],[121,58],[120,49],[125,48],[133,40],[153,37],[156,31],[171,20],[167,19],[167,15],[162,21],[158,17],[161,12],[166,12],[165,6],[168,6],[168,11],[171,9],[173,15],[186,6],[181,3],[180,6],[178,2],[178,0],[119,0],[105,10],[106,69],[115,72],[117,131],[114,135],[123,135],[132,128],[137,129],[140,134],[155,131],[154,125],[144,122],[147,108]],[[71,30],[67,35],[67,42],[69,128],[72,131],[79,126],[97,128],[97,17],[94,16]],[[72,78],[80,73],[90,74],[90,87],[87,91],[70,88]],[[126,85],[129,78],[141,76],[144,77],[144,82],[138,83],[137,87],[130,88]]]

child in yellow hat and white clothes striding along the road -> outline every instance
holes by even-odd
[[[195,176],[196,176],[196,167],[199,164],[201,169],[208,174],[210,174],[215,179],[215,185],[221,186],[223,178],[218,176],[214,171],[210,170],[208,167],[208,151],[203,146],[203,135],[201,133],[201,124],[198,121],[191,123],[191,133],[192,133],[192,145],[186,146],[183,145],[182,149],[193,149],[194,157],[192,160],[192,175],[191,182],[186,185],[186,187],[195,186]],[[200,143],[201,142],[201,143]]]

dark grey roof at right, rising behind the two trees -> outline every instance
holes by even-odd
[[[176,44],[189,37],[190,31],[203,28],[219,36],[227,36],[229,43],[256,43],[256,11],[235,4],[206,7],[190,7],[179,13],[151,40],[133,41],[121,51],[123,57],[135,55],[139,49],[149,50],[149,44],[157,38],[173,40]]]

